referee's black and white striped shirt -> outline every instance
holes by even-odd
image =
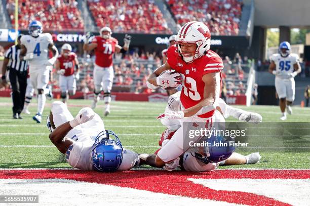
[[[5,55],[5,58],[10,60],[9,67],[10,69],[15,69],[19,72],[27,71],[28,61],[20,61],[19,59],[20,46],[14,45],[11,46]]]

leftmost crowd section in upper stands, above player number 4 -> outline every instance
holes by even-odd
[[[21,29],[28,29],[32,20],[41,21],[44,30],[83,31],[84,21],[75,0],[21,0],[19,1],[18,22]],[[15,24],[15,0],[7,1],[7,11]]]

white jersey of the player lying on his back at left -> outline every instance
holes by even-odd
[[[78,128],[75,131],[72,130],[66,135],[66,137],[74,140],[73,144],[68,148],[65,154],[67,162],[73,168],[78,168],[85,171],[93,170],[92,147],[96,136],[92,136],[87,129]],[[138,164],[138,154],[124,148],[123,161],[118,170],[130,170]]]

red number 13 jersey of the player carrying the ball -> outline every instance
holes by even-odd
[[[205,56],[186,64],[176,53],[175,45],[168,48],[167,62],[171,68],[175,69],[183,77],[180,99],[185,109],[193,107],[203,100],[205,82],[202,77],[208,73],[220,72],[224,67],[222,59],[212,50],[209,50]],[[218,82],[218,85],[220,84],[221,82]],[[218,93],[220,95],[220,92]],[[209,118],[214,112],[215,110],[199,117]]]

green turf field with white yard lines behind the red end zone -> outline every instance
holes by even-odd
[[[51,101],[47,101],[43,122],[37,124],[32,120],[36,104],[30,106],[31,115],[23,115],[23,120],[13,120],[11,98],[0,98],[0,168],[70,168],[48,138],[45,119],[50,103]],[[75,116],[81,108],[90,105],[91,100],[70,99],[68,108]],[[105,129],[118,134],[125,147],[136,152],[153,153],[158,148],[160,134],[165,130],[156,117],[164,111],[165,106],[165,103],[113,101],[111,114],[103,117],[103,106],[100,102],[95,112],[103,118]],[[238,108],[261,114],[263,122],[280,121],[279,107]],[[293,107],[293,113],[288,116],[288,122],[310,122],[310,108]],[[234,119],[229,118],[226,121]],[[262,152],[262,159],[258,164],[220,168],[309,169],[309,155],[310,152]]]

